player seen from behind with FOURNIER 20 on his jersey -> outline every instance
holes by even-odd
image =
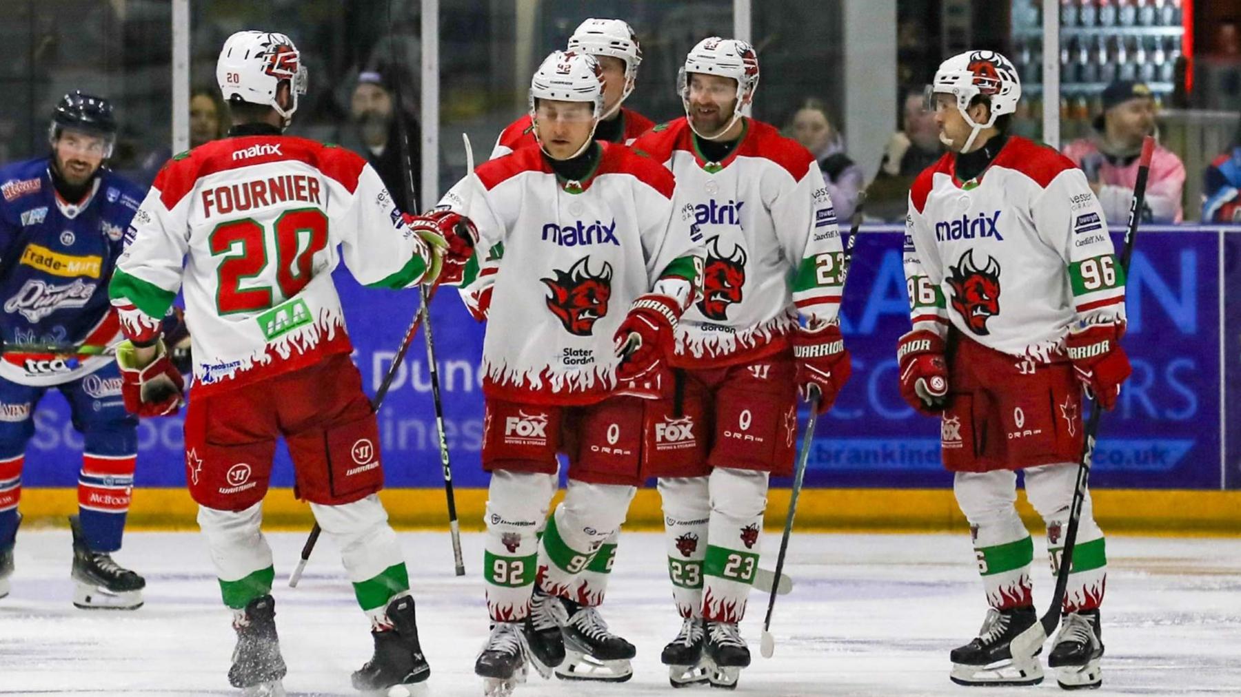
[[[232,129],[170,160],[134,217],[110,285],[129,337],[117,357],[127,406],[176,408],[180,384],[154,320],[184,289],[195,378],[185,471],[237,631],[230,682],[246,695],[283,695],[272,549],[259,531],[283,437],[298,492],[340,549],[371,623],[375,655],[354,687],[382,693],[431,668],[401,548],[375,495],[379,430],[331,272],[343,254],[362,284],[410,288],[442,269],[460,273],[472,249],[406,227],[357,155],[283,135],[305,77],[282,33],[242,31],[225,42],[216,79]]]

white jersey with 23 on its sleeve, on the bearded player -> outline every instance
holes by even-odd
[[[814,156],[776,128],[745,120],[722,162],[699,151],[685,118],[634,141],[676,176],[678,222],[704,237],[702,298],[676,329],[676,363],[725,366],[788,348],[798,314],[833,321],[844,252]]]

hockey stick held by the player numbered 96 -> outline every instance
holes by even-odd
[[[1129,201],[1129,223],[1124,229],[1124,248],[1121,251],[1121,269],[1129,270],[1129,258],[1133,257],[1133,242],[1138,234],[1138,221],[1147,197],[1147,177],[1150,174],[1150,156],[1154,154],[1155,139],[1148,135],[1142,141],[1142,158],[1138,161],[1138,179],[1133,185],[1133,198]],[[1126,277],[1128,278],[1128,277]],[[1090,481],[1091,459],[1095,456],[1095,439],[1098,434],[1098,422],[1103,414],[1095,394],[1088,394],[1091,403],[1090,420],[1086,422],[1082,458],[1077,464],[1077,484],[1073,487],[1072,504],[1069,506],[1069,530],[1065,532],[1065,547],[1060,552],[1056,568],[1056,589],[1051,594],[1051,606],[1030,629],[1013,639],[1013,645],[1021,655],[1033,656],[1042,642],[1056,630],[1064,609],[1065,593],[1069,588],[1069,573],[1073,566],[1073,548],[1077,546],[1077,526],[1082,517],[1082,504],[1086,501],[1086,487]]]

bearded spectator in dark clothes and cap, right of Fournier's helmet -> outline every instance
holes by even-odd
[[[421,131],[418,122],[407,109],[398,109],[393,97],[391,71],[362,71],[357,76],[350,99],[349,122],[336,134],[336,143],[357,153],[375,167],[383,186],[392,193],[396,207],[412,211],[407,200],[405,161],[401,156],[401,131],[395,118],[405,119],[410,138],[410,162],[413,166],[414,196],[418,196],[418,167],[422,162]]]

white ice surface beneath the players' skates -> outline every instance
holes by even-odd
[[[304,535],[272,535],[277,625],[290,695],[356,695],[350,671],[370,657],[367,624],[323,538],[297,589],[285,585]],[[421,695],[480,696],[474,655],[486,635],[482,537],[464,536],[469,575],[452,570],[447,533],[402,533],[432,676]],[[778,537],[764,539],[774,564]],[[1108,537],[1103,606],[1103,695],[1241,695],[1241,539]],[[2,695],[236,695],[226,671],[233,633],[197,533],[130,533],[117,559],[145,574],[146,605],[133,613],[71,605],[68,531],[22,530],[12,592],[0,600]],[[758,655],[767,597],[751,595],[742,625],[753,664],[736,695],[970,695],[948,681],[948,650],[985,611],[968,535],[794,535],[772,630],[776,655]],[[417,562],[412,562],[417,559]],[[603,615],[638,646],[622,685],[544,681],[520,696],[620,697],[673,693],[659,651],[675,636],[663,541],[620,539]],[[1050,593],[1040,563],[1040,611]],[[1044,654],[1046,655],[1046,652]],[[706,688],[678,697],[701,695]],[[985,697],[1060,693],[984,690]],[[706,692],[720,695],[719,692]]]

